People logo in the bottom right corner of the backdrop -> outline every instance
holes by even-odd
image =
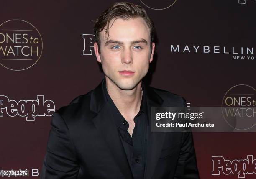
[[[256,159],[248,155],[247,159],[225,160],[223,156],[212,156],[212,175],[238,175],[245,178],[246,174],[256,174]]]

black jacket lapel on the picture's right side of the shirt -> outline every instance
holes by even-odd
[[[151,107],[161,106],[163,104],[163,100],[150,87],[147,87],[146,96],[147,96],[147,113],[149,118],[148,119],[149,120],[149,131],[148,131],[149,142],[148,142],[148,148],[147,148],[147,161],[146,161],[144,178],[151,179],[154,174],[154,170],[156,168],[157,161],[161,153],[165,133],[151,132]]]

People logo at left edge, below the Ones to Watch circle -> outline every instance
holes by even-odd
[[[55,111],[52,100],[44,100],[44,95],[36,96],[36,100],[9,100],[7,96],[0,95],[0,117],[8,115],[26,117],[27,121],[34,121],[37,116],[51,116]]]

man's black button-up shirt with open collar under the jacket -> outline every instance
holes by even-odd
[[[146,90],[142,83],[142,100],[138,114],[134,117],[133,121],[135,127],[133,129],[133,135],[131,137],[128,133],[129,123],[125,120],[118,108],[115,106],[113,100],[108,94],[106,82],[104,82],[104,92],[108,105],[110,107],[110,115],[113,118],[116,127],[119,131],[120,139],[123,143],[128,163],[130,165],[133,178],[143,179],[145,165],[146,165],[146,146],[148,140],[148,116],[147,116],[147,102],[146,102]]]

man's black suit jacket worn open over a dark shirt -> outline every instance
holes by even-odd
[[[184,98],[164,90],[146,87],[145,95],[148,116],[151,106],[186,106]],[[54,113],[41,179],[133,178],[105,102],[101,82]],[[148,138],[144,179],[199,178],[192,133],[149,132]]]

